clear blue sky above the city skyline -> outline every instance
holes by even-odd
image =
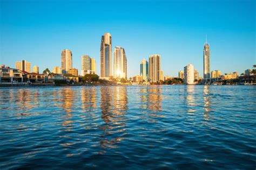
[[[211,70],[239,74],[256,64],[255,1],[49,1],[0,0],[0,64],[30,61],[39,72],[61,66],[61,51],[70,49],[73,68],[81,56],[96,59],[100,40],[112,35],[125,48],[128,77],[140,74],[140,61],[161,55],[164,75],[178,76],[192,63],[203,76],[207,34]],[[113,56],[113,53],[112,53]]]

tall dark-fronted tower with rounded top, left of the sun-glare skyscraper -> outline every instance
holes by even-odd
[[[100,77],[112,75],[112,37],[110,33],[104,33],[100,44]]]

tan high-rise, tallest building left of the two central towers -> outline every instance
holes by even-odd
[[[62,74],[68,74],[72,69],[72,52],[69,49],[62,51]]]

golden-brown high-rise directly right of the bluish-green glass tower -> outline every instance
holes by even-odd
[[[161,78],[161,55],[153,54],[149,57],[149,80],[159,82]]]

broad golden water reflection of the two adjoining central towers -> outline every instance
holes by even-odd
[[[102,119],[104,125],[100,127],[103,133],[99,137],[102,148],[114,148],[116,143],[124,139],[127,111],[127,94],[125,86],[101,87],[100,97]],[[101,151],[100,153],[104,153]]]

